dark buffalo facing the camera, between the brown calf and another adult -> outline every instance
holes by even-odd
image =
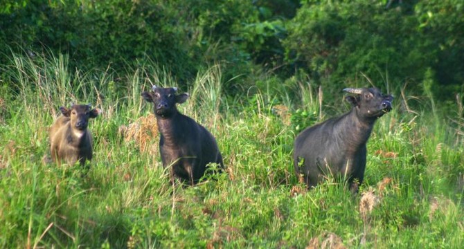
[[[159,150],[163,167],[171,167],[176,176],[191,185],[204,176],[208,163],[224,167],[222,156],[213,135],[192,118],[177,111],[176,104],[185,102],[187,93],[177,95],[177,89],[153,86],[142,96],[153,103],[154,115],[161,138]]]

